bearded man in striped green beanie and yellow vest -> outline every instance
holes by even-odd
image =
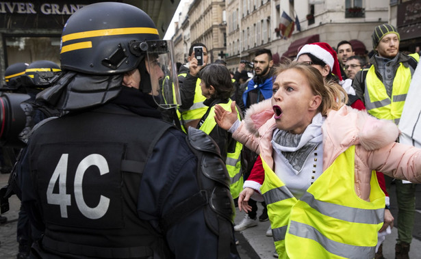
[[[405,55],[399,52],[400,36],[396,28],[390,24],[377,26],[372,34],[372,42],[373,50],[376,52],[370,59],[372,66],[355,75],[353,81],[355,94],[363,100],[368,113],[376,118],[393,120],[399,124],[404,105],[409,105],[405,103],[405,98],[420,55],[418,53]],[[392,180],[385,176],[387,189]],[[412,241],[415,219],[416,185],[398,179],[394,182],[398,200],[398,239],[395,255],[398,259],[409,258],[409,245]]]

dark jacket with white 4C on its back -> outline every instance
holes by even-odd
[[[170,254],[166,258],[217,257],[218,237],[207,227],[203,209],[186,215],[169,229],[161,228],[162,217],[197,193],[199,186],[196,156],[186,143],[186,135],[159,116],[151,96],[123,87],[110,103],[64,115],[38,128],[22,163],[33,172],[32,179],[21,186],[23,206],[37,228],[44,230],[42,245],[48,245],[47,241],[52,239],[53,245],[70,243],[69,247],[93,246],[117,251],[121,247],[145,246],[164,253],[164,248],[168,248]],[[143,143],[149,146],[142,146]],[[68,154],[66,165],[59,165],[62,153]],[[90,159],[83,167],[82,158],[90,153],[106,157],[110,173],[98,174],[100,170],[95,170],[95,166],[93,169],[87,166],[92,162]],[[79,166],[84,168],[81,172],[86,170],[82,178],[75,176]],[[140,168],[142,174],[131,172],[133,168]],[[60,177],[51,176],[53,172]],[[64,205],[62,200],[46,202],[45,193],[51,197],[64,195],[64,191],[49,190],[47,186],[64,181],[65,174],[66,195],[70,196],[71,204]],[[73,186],[73,179],[86,185],[82,185],[84,193],[74,190],[77,185]],[[102,217],[91,215],[84,206],[79,207],[82,197],[86,206],[98,210],[100,195],[110,199],[112,208],[105,209]],[[77,197],[79,202],[75,202]],[[60,217],[64,208],[68,215]],[[87,214],[81,213],[82,210]],[[46,248],[38,251],[59,257],[66,254]],[[82,253],[81,249],[69,251]]]

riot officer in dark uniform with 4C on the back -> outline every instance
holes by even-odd
[[[175,66],[171,48],[125,3],[94,3],[68,19],[66,72],[37,96],[67,113],[38,124],[21,163],[32,177],[23,204],[44,232],[33,256],[238,258],[218,148],[201,131],[186,141],[157,111],[174,107],[161,105],[159,83],[177,76],[161,69]]]

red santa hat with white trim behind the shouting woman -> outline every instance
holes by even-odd
[[[324,63],[329,65],[331,72],[339,78],[339,81],[342,81],[341,69],[339,62],[337,61],[336,52],[333,51],[329,44],[326,42],[305,44],[303,48],[300,49],[296,57],[298,58],[300,55],[305,53],[310,53],[311,55],[314,55],[314,57],[321,59]]]

